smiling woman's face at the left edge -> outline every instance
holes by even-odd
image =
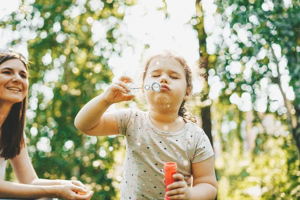
[[[28,84],[28,72],[20,59],[13,58],[0,64],[0,101],[22,101],[27,95]]]

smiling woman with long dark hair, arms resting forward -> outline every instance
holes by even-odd
[[[90,199],[80,181],[41,179],[33,169],[23,136],[28,66],[21,54],[0,50],[0,198]],[[3,180],[7,159],[19,183]]]

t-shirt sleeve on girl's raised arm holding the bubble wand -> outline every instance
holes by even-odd
[[[117,109],[114,111],[119,134],[126,135],[128,123],[132,117],[133,111],[130,108]]]

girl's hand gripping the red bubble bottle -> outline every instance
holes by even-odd
[[[166,195],[168,195],[168,199],[189,200],[190,191],[186,182],[184,181],[183,175],[180,173],[176,173],[173,175],[173,178],[176,181],[167,186],[169,191],[165,193]]]

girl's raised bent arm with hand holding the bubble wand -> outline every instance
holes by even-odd
[[[87,135],[118,134],[114,113],[105,111],[113,103],[131,100],[134,97],[134,95],[126,94],[130,91],[126,82],[131,81],[129,76],[122,75],[118,81],[111,83],[102,94],[88,101],[75,117],[76,128]]]

